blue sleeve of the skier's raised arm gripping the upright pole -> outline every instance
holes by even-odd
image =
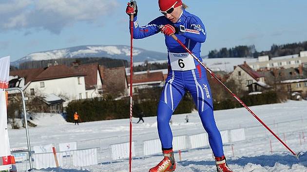
[[[134,17],[134,26],[133,26],[133,38],[134,39],[142,39],[144,37],[151,36],[153,34],[159,33],[160,21],[159,17],[151,21],[145,26],[140,27],[137,23],[137,16]],[[131,30],[131,27],[129,27]]]

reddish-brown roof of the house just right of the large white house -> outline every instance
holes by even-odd
[[[85,89],[95,88],[95,85],[97,85],[98,63],[84,64],[71,68],[86,74],[86,76],[84,77]]]

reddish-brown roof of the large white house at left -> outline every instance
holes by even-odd
[[[74,76],[85,76],[85,74],[77,71],[76,69],[69,68],[66,65],[56,65],[45,69],[35,79],[33,79],[33,81],[67,78]]]

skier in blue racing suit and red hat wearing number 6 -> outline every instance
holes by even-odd
[[[181,0],[158,0],[163,16],[140,27],[137,23],[136,2],[128,3],[126,13],[134,15],[133,37],[141,39],[159,32],[165,35],[168,50],[169,71],[157,110],[157,128],[164,158],[149,172],[173,172],[176,168],[173,153],[173,134],[169,124],[172,114],[188,90],[197,104],[203,127],[209,135],[209,143],[215,156],[218,172],[232,172],[226,164],[222,138],[213,117],[211,89],[206,70],[187,53],[172,37],[188,47],[200,60],[201,43],[206,40],[206,29],[199,17],[186,11]]]

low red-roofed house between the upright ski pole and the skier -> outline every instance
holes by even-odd
[[[130,87],[130,75],[127,76],[129,82],[128,86]],[[142,88],[151,88],[154,86],[164,86],[164,75],[162,71],[146,73],[134,73],[133,75],[133,92],[136,92],[138,89]]]

